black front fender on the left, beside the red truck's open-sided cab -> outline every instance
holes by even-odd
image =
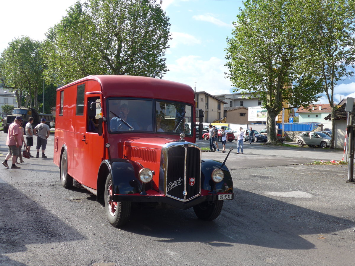
[[[106,164],[112,177],[113,194],[134,194],[142,191],[142,182],[138,180],[138,172],[142,168],[130,160],[114,159]]]

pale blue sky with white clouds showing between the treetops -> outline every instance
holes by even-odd
[[[29,36],[42,41],[50,27],[59,23],[76,0],[12,0],[1,3],[0,53],[14,39]],[[160,2],[160,0],[158,1]],[[226,37],[243,7],[233,0],[163,0],[162,9],[170,18],[173,39],[166,51],[169,69],[163,79],[190,85],[209,94],[233,93],[225,78]],[[338,82],[334,101],[355,98],[355,77]],[[329,103],[325,95],[316,103]]]

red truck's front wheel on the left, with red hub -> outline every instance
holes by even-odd
[[[112,177],[108,174],[105,183],[105,209],[106,216],[110,224],[114,227],[120,227],[127,223],[131,214],[131,202],[130,201],[113,201],[113,188]]]

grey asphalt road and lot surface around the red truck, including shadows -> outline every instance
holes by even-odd
[[[5,140],[0,134],[1,160]],[[53,135],[48,159],[0,167],[0,265],[354,265],[348,168],[307,164],[341,160],[342,151],[245,144],[244,154],[233,150],[226,161],[235,199],[216,220],[135,206],[118,229],[92,194],[61,187],[50,144]]]

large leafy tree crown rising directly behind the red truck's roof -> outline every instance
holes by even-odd
[[[92,74],[164,73],[169,30],[154,0],[78,1],[47,33],[46,76],[66,84]]]

